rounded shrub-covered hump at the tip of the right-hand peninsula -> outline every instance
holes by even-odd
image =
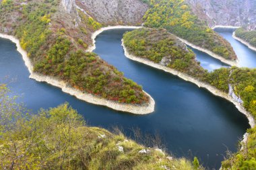
[[[198,79],[205,71],[195,60],[193,51],[164,29],[142,28],[123,36],[125,47],[131,54],[160,65],[193,75]]]

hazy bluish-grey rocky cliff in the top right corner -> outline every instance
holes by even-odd
[[[210,27],[246,26],[256,28],[256,0],[186,0],[193,12]]]

